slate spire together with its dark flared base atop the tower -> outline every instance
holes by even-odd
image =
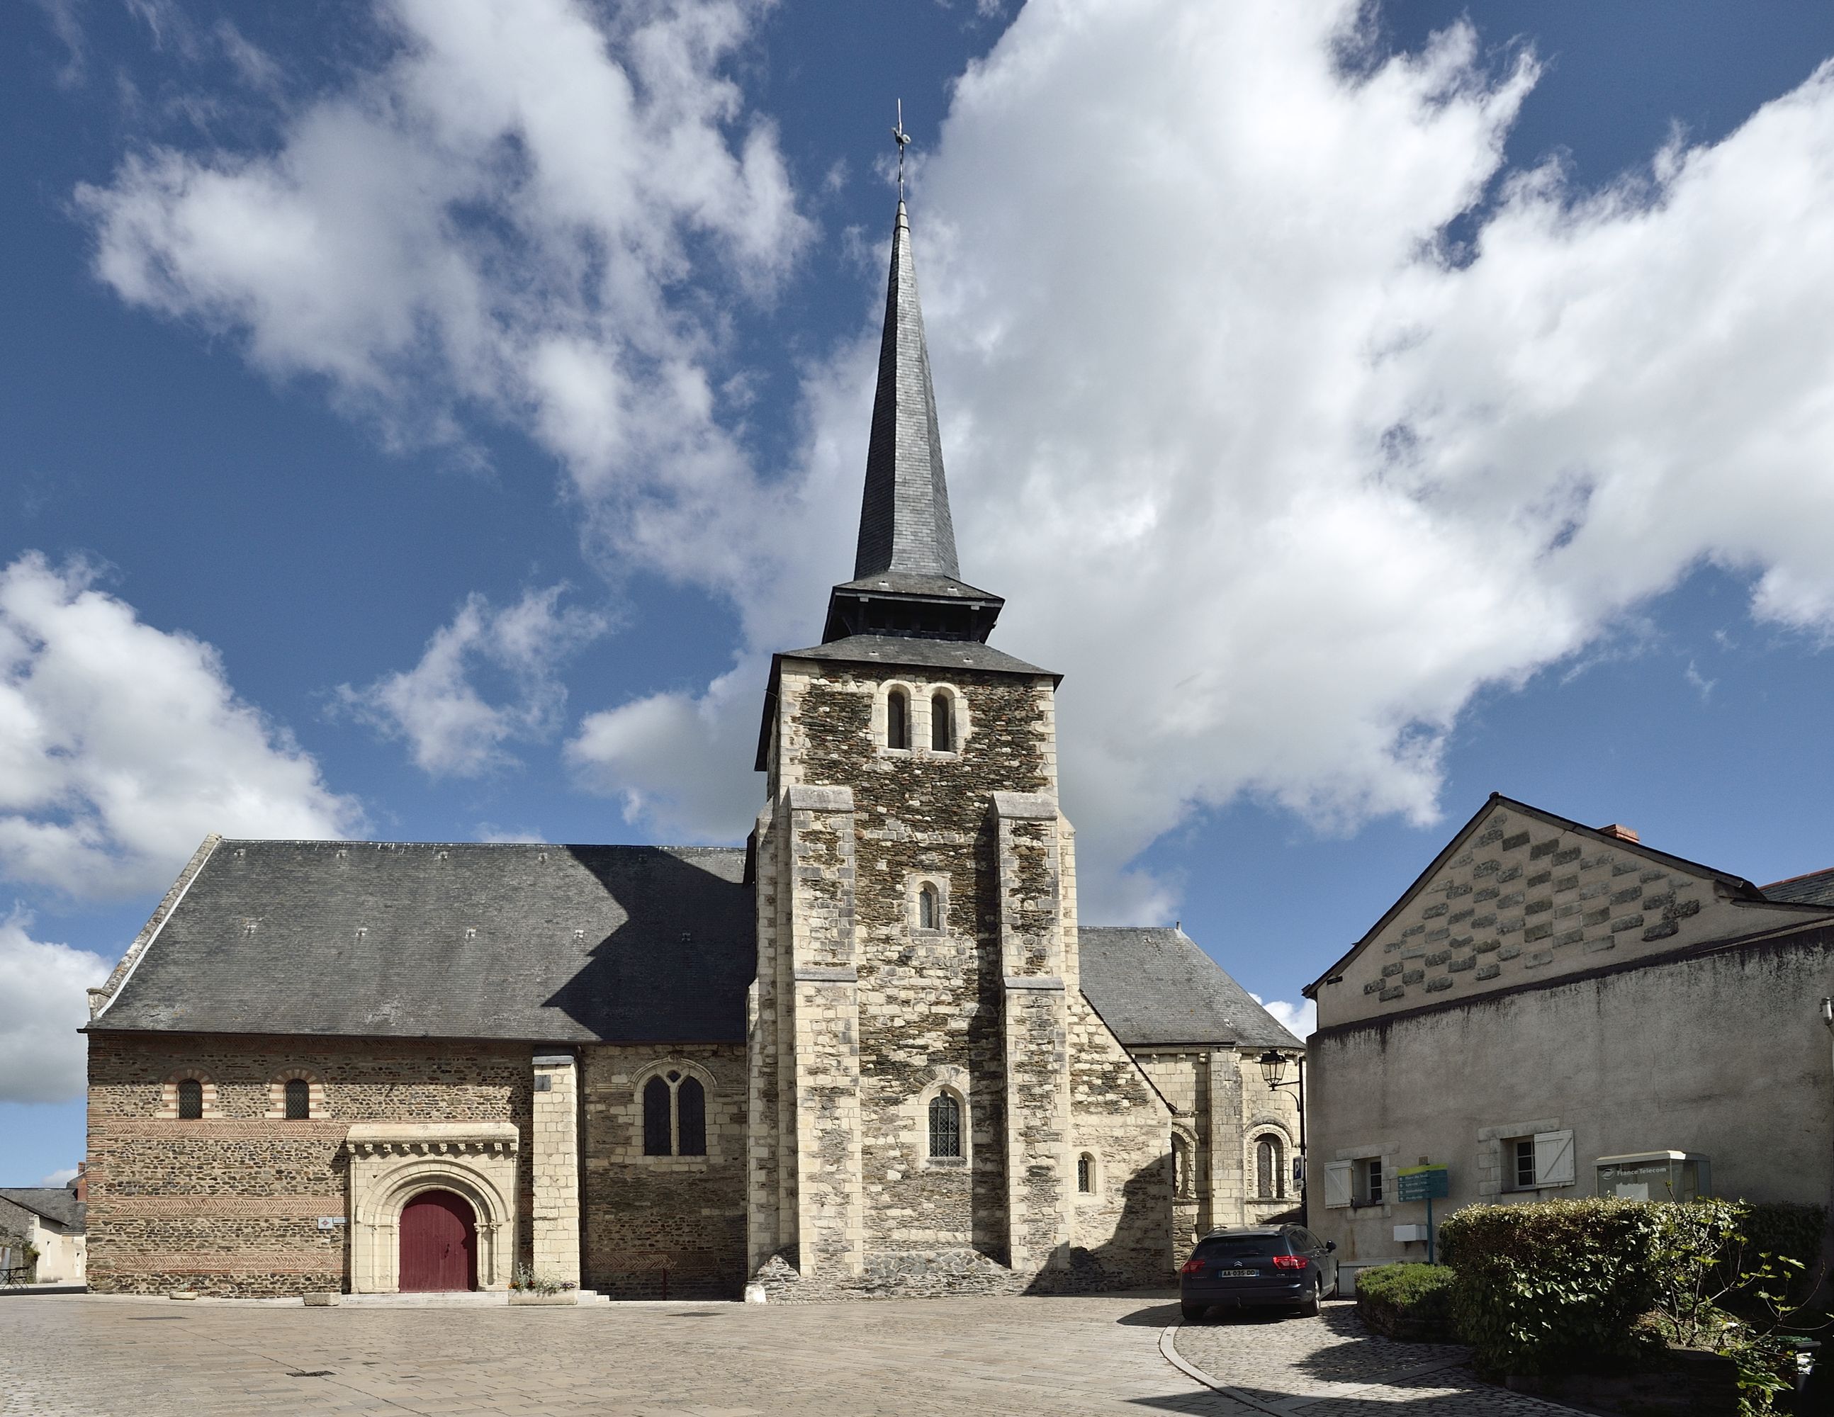
[[[855,634],[985,642],[1001,605],[1000,596],[965,585],[956,559],[917,264],[900,200],[891,231],[860,541],[853,579],[836,585],[829,598],[822,642]]]

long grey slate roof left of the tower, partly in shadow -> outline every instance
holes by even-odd
[[[743,874],[723,847],[222,841],[90,1028],[741,1041]]]

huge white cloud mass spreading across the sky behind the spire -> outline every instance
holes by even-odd
[[[702,312],[803,227],[768,125],[721,137],[745,11],[609,40],[558,2],[389,13],[400,55],[279,152],[88,191],[99,269],[394,436],[525,420],[622,565],[728,594],[734,671],[570,752],[629,812],[735,836],[765,654],[847,568],[877,299],[809,374],[800,466],[748,467]],[[998,643],[1067,673],[1095,918],[1155,913],[1124,863],[1242,794],[1432,819],[1478,687],[1704,561],[1834,627],[1834,70],[1575,191],[1500,170],[1528,59],[1491,70],[1469,26],[1383,59],[1359,16],[1033,0],[913,169],[963,566],[1007,596]]]

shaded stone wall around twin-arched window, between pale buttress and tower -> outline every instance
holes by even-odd
[[[706,1155],[646,1157],[642,1087],[706,1087]],[[614,1298],[737,1298],[745,1285],[745,1045],[581,1049],[587,1289]]]

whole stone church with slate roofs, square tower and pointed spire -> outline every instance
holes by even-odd
[[[899,202],[855,576],[772,660],[745,847],[209,836],[92,990],[92,1291],[1067,1292],[1295,1210],[1302,1045],[1181,929],[1078,928],[1001,605]]]

